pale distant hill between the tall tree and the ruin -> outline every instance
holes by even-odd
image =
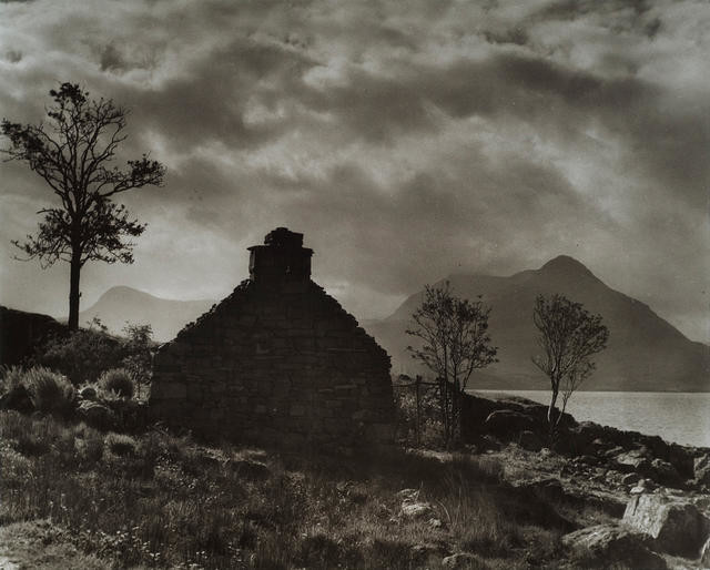
[[[91,307],[79,313],[79,324],[84,326],[99,317],[111,333],[121,333],[126,322],[150,324],[153,338],[164,342],[174,338],[183,326],[209,311],[214,303],[211,299],[171,301],[131,287],[112,287]]]

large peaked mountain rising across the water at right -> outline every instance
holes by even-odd
[[[597,278],[577,259],[562,255],[539,269],[509,277],[452,275],[454,294],[470,299],[478,295],[491,307],[490,336],[498,346],[499,363],[474,371],[471,387],[542,389],[548,380],[530,358],[538,353],[532,307],[537,295],[561,293],[599,313],[609,327],[607,349],[595,358],[597,370],[585,389],[625,391],[710,391],[710,347],[694,343],[659,317],[651,308]],[[393,357],[393,370],[420,373],[406,347],[412,313],[424,292],[407,298],[393,315],[368,323],[367,330]]]

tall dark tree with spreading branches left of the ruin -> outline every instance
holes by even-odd
[[[146,154],[112,166],[126,139],[128,111],[112,100],[90,100],[79,85],[62,83],[51,90],[49,121],[37,125],[2,120],[1,133],[10,146],[0,152],[8,160],[28,164],[59,197],[59,205],[40,210],[44,220],[27,242],[12,243],[28,259],[38,257],[42,267],[57,261],[70,264],[69,328],[79,327],[79,279],[88,261],[132,263],[131,242],[145,225],[131,220],[125,206],[112,202],[119,193],[145,185],[162,185],[165,169]]]

